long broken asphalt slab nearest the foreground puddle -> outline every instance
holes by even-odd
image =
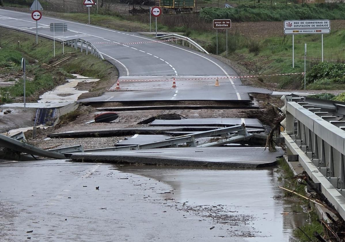
[[[263,147],[160,148],[132,151],[69,153],[78,162],[258,168],[272,166],[284,152]]]

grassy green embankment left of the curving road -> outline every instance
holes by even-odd
[[[0,74],[4,81],[13,81],[14,85],[0,87],[0,104],[13,101],[13,97],[22,97],[23,79],[21,59],[26,58],[26,96],[37,99],[45,91],[65,83],[68,73],[88,77],[103,78],[109,73],[112,65],[100,61],[97,57],[84,53],[72,57],[61,65],[49,67],[56,60],[63,58],[62,47],[56,44],[56,58],[53,57],[53,41],[25,33],[0,28]],[[65,47],[65,53],[75,49]]]

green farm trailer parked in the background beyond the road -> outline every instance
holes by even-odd
[[[159,0],[159,7],[163,13],[191,12],[195,7],[195,0]]]

